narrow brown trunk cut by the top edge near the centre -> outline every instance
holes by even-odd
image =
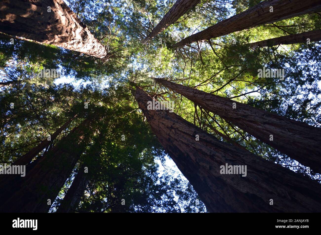
[[[156,27],[144,39],[146,42],[154,38],[157,34],[165,30],[169,25],[175,23],[182,15],[184,15],[190,8],[195,7],[201,0],[177,0],[176,3],[169,9],[168,13],[161,19]]]

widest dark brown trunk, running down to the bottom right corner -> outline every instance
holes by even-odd
[[[152,98],[138,87],[133,94],[152,131],[210,212],[321,210],[317,182],[219,141],[169,110],[148,110],[147,102]],[[221,174],[226,163],[246,165],[247,176]]]

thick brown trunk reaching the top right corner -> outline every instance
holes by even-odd
[[[273,12],[270,12],[273,7]],[[173,45],[182,47],[188,43],[220,37],[232,32],[288,19],[301,14],[317,12],[321,9],[320,0],[270,0],[257,4],[246,11],[223,20],[203,31],[195,33]]]

